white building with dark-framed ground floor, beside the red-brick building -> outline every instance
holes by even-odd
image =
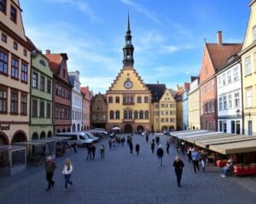
[[[229,59],[217,73],[218,131],[242,134],[241,59]]]

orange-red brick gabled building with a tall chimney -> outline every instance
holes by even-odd
[[[216,72],[230,56],[241,49],[241,43],[223,43],[222,32],[217,43],[206,43],[200,71],[201,129],[217,130]]]

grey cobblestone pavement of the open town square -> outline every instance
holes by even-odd
[[[149,141],[153,136],[149,137]],[[160,141],[165,149],[166,136]],[[177,188],[172,162],[176,156],[171,145],[170,155],[163,158],[163,166],[157,166],[157,157],[150,151],[150,143],[140,135],[133,136],[133,144],[141,144],[140,156],[130,154],[128,145],[116,145],[108,150],[108,139],[101,142],[106,147],[106,158],[101,160],[96,144],[96,159],[86,161],[86,150],[57,158],[55,188],[45,191],[47,183],[43,167],[31,167],[11,178],[0,178],[0,203],[85,203],[85,204],[166,204],[166,203],[255,203],[256,194],[237,179],[222,178],[216,168],[207,173],[194,173],[192,164],[185,157],[182,187]],[[73,187],[63,190],[61,175],[65,158],[73,161]],[[255,180],[254,180],[255,181]],[[255,183],[254,183],[255,184]]]

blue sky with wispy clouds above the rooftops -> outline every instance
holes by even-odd
[[[26,36],[45,52],[67,53],[68,71],[105,93],[122,68],[127,12],[135,68],[146,83],[168,88],[201,69],[204,39],[242,42],[249,0],[20,0]]]

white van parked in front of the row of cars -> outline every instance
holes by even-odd
[[[56,133],[56,136],[70,138],[67,142],[69,144],[73,144],[75,142],[78,146],[86,147],[88,144],[93,143],[93,140],[83,132]]]

